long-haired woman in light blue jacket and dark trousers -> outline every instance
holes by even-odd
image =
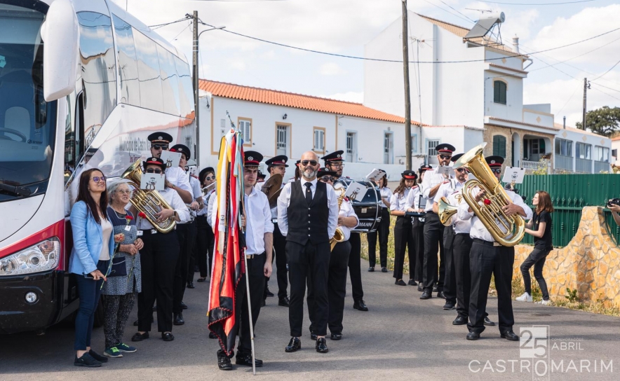
[[[71,209],[73,249],[69,258],[69,272],[75,274],[80,297],[75,319],[74,365],[93,368],[107,362],[107,358],[90,349],[90,334],[101,285],[114,255],[114,242],[121,242],[123,235],[112,235],[103,173],[97,168],[88,169],[79,181],[78,197]]]

